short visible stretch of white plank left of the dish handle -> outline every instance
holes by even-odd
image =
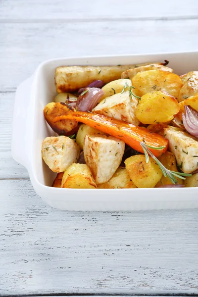
[[[11,157],[14,93],[0,93],[0,179],[28,178],[27,170]]]

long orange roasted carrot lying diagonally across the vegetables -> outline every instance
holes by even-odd
[[[131,148],[143,153],[144,151],[140,144],[142,141],[151,147],[165,147],[160,150],[149,148],[156,157],[161,156],[168,147],[167,139],[161,135],[150,133],[144,127],[134,126],[105,115],[69,110],[64,115],[57,116],[53,119],[54,122],[60,120],[76,120],[77,122],[82,122],[124,141]]]

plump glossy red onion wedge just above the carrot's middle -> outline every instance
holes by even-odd
[[[76,109],[79,111],[92,111],[104,96],[104,91],[99,88],[86,88],[78,97]]]

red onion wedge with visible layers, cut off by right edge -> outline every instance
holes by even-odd
[[[185,129],[198,138],[198,112],[192,107],[185,105],[185,114],[182,113],[182,120]]]

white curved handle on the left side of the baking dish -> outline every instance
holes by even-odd
[[[13,159],[28,169],[27,155],[27,116],[30,105],[32,77],[22,82],[15,93],[13,118],[12,118],[12,144]]]

